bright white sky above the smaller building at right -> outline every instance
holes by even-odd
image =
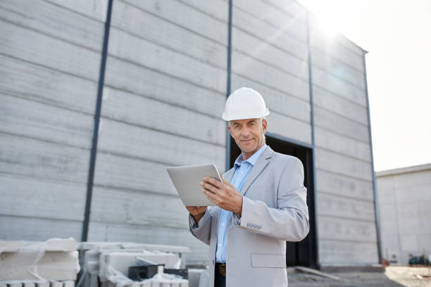
[[[431,0],[298,0],[366,56],[376,171],[431,163]]]

